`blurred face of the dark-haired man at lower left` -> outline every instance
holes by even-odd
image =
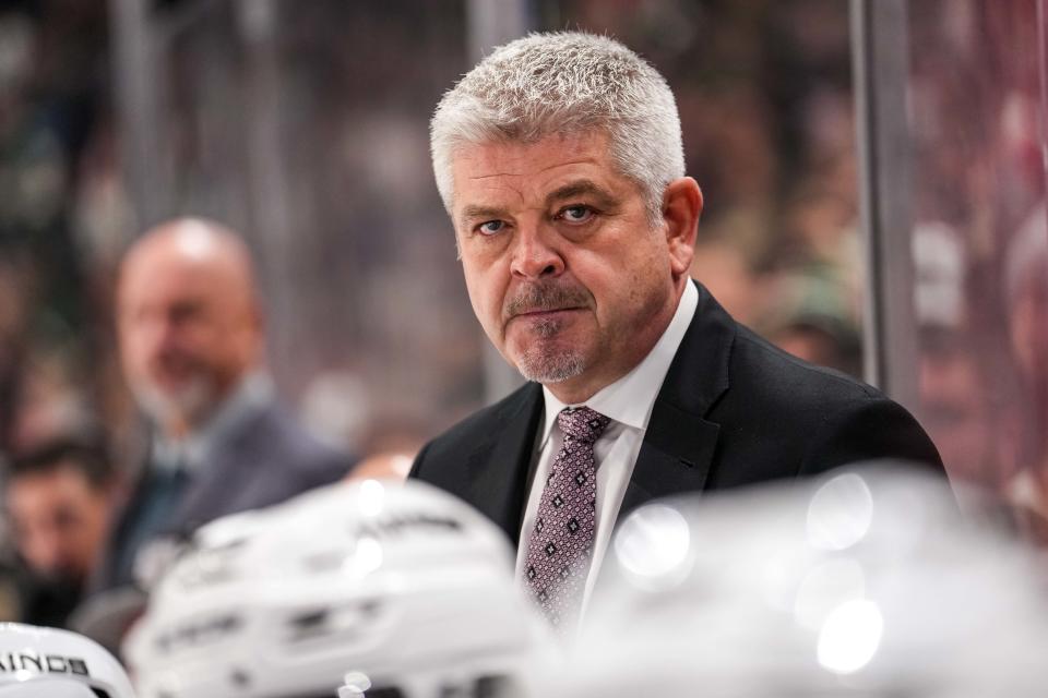
[[[8,515],[19,553],[36,573],[82,583],[103,544],[109,495],[74,466],[13,479]]]

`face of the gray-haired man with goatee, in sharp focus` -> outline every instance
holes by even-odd
[[[588,399],[640,363],[691,262],[665,221],[651,226],[607,141],[591,132],[489,143],[452,163],[474,312],[508,361],[565,401]]]

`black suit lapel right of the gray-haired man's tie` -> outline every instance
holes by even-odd
[[[736,329],[710,292],[695,286],[699,305],[655,398],[618,520],[650,500],[701,492],[710,476],[720,428],[705,416],[728,389]]]

